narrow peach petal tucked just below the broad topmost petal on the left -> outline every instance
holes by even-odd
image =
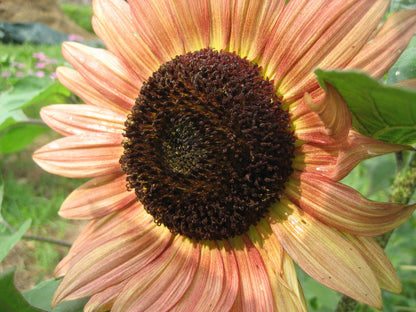
[[[100,93],[76,70],[60,66],[56,69],[56,75],[64,87],[76,93],[85,103],[109,109],[120,115],[128,114],[130,104],[125,105],[121,99],[114,100],[114,97],[107,97]]]

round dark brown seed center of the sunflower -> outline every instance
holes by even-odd
[[[120,163],[155,222],[217,240],[246,232],[279,199],[294,142],[260,68],[204,49],[163,64],[143,84]]]

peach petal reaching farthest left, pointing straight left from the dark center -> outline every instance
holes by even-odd
[[[33,154],[45,171],[69,178],[93,178],[120,172],[123,137],[117,134],[69,136],[52,141]]]

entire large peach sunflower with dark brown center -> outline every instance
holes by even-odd
[[[293,261],[381,308],[399,292],[372,238],[415,206],[338,182],[408,147],[356,132],[315,68],[381,78],[416,30],[386,0],[95,0],[107,49],[68,42],[59,81],[86,104],[52,105],[65,137],[34,154],[92,178],[59,214],[90,220],[55,276],[53,304],[85,311],[306,311]]]

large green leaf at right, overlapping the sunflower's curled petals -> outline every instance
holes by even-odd
[[[323,88],[333,85],[348,104],[360,133],[397,144],[416,142],[416,91],[388,86],[358,71],[315,74]]]

